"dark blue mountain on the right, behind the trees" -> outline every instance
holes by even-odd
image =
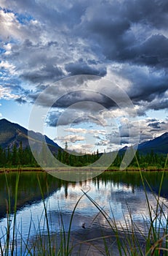
[[[120,152],[125,151],[127,148],[121,148]],[[168,153],[168,132],[165,132],[163,135],[153,139],[147,140],[143,143],[140,143],[137,147],[137,150],[141,154],[151,153],[153,151],[157,154],[167,154]]]

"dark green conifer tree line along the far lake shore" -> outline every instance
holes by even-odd
[[[35,152],[39,154],[39,159],[47,159],[47,154],[45,151],[45,145],[41,147],[41,151]],[[106,153],[108,154],[108,153]],[[65,165],[70,165],[74,167],[87,166],[96,162],[102,154],[97,150],[92,154],[77,154],[75,151],[68,151],[68,145],[65,143],[65,149],[58,149],[57,154],[54,154],[60,162]],[[110,168],[120,167],[124,154],[117,154]],[[148,154],[140,154],[136,152],[135,157],[132,159],[129,167],[148,168],[150,166],[155,166],[157,168],[163,168],[166,162],[166,155],[156,154],[153,151]],[[0,147],[0,167],[39,167],[36,159],[33,157],[31,148],[23,148],[22,142],[20,146],[17,147],[16,144],[12,148],[3,149]]]

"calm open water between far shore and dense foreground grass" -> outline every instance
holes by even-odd
[[[68,231],[73,208],[77,200],[84,192],[92,197],[95,202],[105,210],[109,219],[115,218],[116,225],[126,228],[125,220],[129,219],[129,212],[133,221],[141,233],[146,233],[145,222],[148,223],[148,211],[145,203],[145,192],[140,180],[139,173],[133,172],[105,172],[89,181],[68,182],[50,176],[47,173],[25,172],[20,173],[20,183],[17,198],[17,243],[28,237],[31,230],[31,239],[43,230],[47,233],[44,221],[44,204],[41,200],[41,192],[37,181],[37,175],[41,182],[44,200],[47,204],[49,216],[49,230],[51,234],[60,232],[60,214],[63,218],[65,231]],[[159,191],[161,173],[144,172],[144,178],[149,182],[151,189],[146,186],[148,199],[151,207],[156,208],[156,198]],[[7,173],[9,183],[11,208],[15,203],[15,179],[16,173]],[[168,173],[164,175],[161,189],[161,200],[168,205]],[[83,191],[84,192],[83,192]],[[4,174],[0,174],[0,237],[3,244],[5,228],[7,227],[7,185]],[[73,217],[71,231],[76,239],[86,236],[87,238],[101,236],[100,229],[111,232],[111,228],[102,214],[86,195],[81,198]],[[12,223],[13,215],[11,215]],[[164,220],[163,220],[164,222]],[[33,225],[32,225],[33,223]],[[85,229],[81,226],[85,223]],[[31,228],[30,228],[31,225]],[[100,234],[99,234],[100,232]],[[87,234],[87,235],[86,235]],[[97,254],[98,255],[98,254]]]

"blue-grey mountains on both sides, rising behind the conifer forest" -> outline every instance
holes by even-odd
[[[19,124],[12,123],[7,119],[0,120],[0,146],[1,148],[12,148],[14,144],[17,147],[20,146],[20,141],[22,141],[23,148],[29,146],[29,140],[34,143],[36,150],[38,151],[41,148],[41,143],[46,140],[47,146],[52,151],[56,153],[60,146],[57,145],[53,140],[49,139],[46,135],[41,135],[39,132],[29,131],[24,127],[21,127]],[[62,149],[62,148],[60,148]],[[121,148],[120,152],[123,152],[127,147]],[[137,150],[142,154],[151,153],[153,151],[157,154],[167,154],[168,153],[168,132],[165,132],[163,135],[154,138],[153,140],[147,140],[143,143],[140,143],[137,147]]]

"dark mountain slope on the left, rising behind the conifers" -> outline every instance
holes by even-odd
[[[28,142],[31,140],[33,148],[36,151],[41,149],[41,144],[46,140],[47,146],[53,153],[57,153],[60,146],[57,145],[53,140],[49,139],[46,135],[41,135],[39,132],[29,131],[19,124],[12,123],[7,119],[0,120],[0,146],[1,148],[12,148],[14,144],[17,147],[20,146],[20,141],[22,141],[23,148],[29,147]],[[60,148],[61,149],[61,148]]]

